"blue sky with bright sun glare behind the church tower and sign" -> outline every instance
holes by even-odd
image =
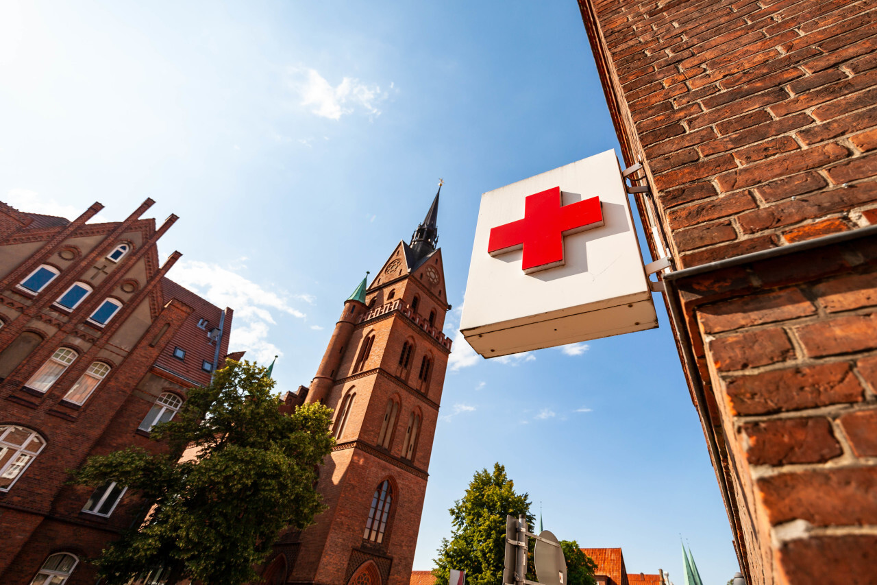
[[[621,546],[681,585],[737,570],[659,303],[660,329],[484,361],[455,336],[482,192],[617,148],[573,0],[0,5],[0,198],[75,216],[181,217],[171,272],[235,309],[232,350],[307,384],[342,302],[435,193],[456,337],[415,568],[502,462],[545,528]],[[512,439],[524,433],[526,439]]]

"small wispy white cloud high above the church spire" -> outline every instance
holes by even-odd
[[[321,118],[340,119],[357,109],[375,118],[381,115],[378,106],[389,96],[377,83],[362,83],[354,77],[344,77],[333,87],[315,69],[293,68],[289,73],[289,83],[301,98],[300,104],[311,106],[310,112]],[[390,89],[395,89],[393,83]]]

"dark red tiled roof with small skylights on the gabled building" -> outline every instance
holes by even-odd
[[[160,368],[174,372],[176,375],[197,386],[206,386],[210,384],[210,372],[203,370],[203,362],[213,363],[216,352],[216,343],[213,343],[207,336],[211,329],[219,327],[219,320],[222,316],[222,310],[206,300],[203,300],[196,293],[189,291],[182,285],[176,284],[170,278],[161,279],[161,292],[164,294],[164,302],[167,304],[171,299],[181,301],[183,304],[192,307],[192,314],[189,319],[182,324],[165,347],[161,351],[159,358],[155,360],[155,364]],[[203,328],[198,327],[198,321],[207,320],[207,324]],[[225,357],[228,353],[228,337],[232,330],[232,310],[229,309],[225,314],[225,323],[223,325],[223,338],[219,347],[219,357]],[[174,349],[179,347],[185,351],[185,357],[178,359],[174,357]]]

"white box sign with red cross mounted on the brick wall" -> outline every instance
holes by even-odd
[[[460,331],[496,358],[658,327],[615,152],[481,196]]]

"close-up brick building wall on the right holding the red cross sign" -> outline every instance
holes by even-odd
[[[746,581],[877,567],[877,6],[580,0]]]

